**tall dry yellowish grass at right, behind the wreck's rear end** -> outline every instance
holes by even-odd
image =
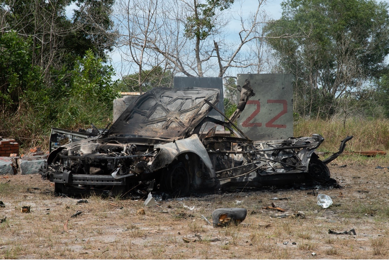
[[[389,121],[385,119],[348,119],[343,128],[341,120],[304,120],[294,123],[294,136],[318,133],[324,137],[319,151],[337,151],[340,141],[347,135],[354,138],[347,143],[348,151],[389,149]]]

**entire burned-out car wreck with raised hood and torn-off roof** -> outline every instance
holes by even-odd
[[[253,141],[233,121],[208,116],[218,102],[218,89],[154,88],[138,96],[107,131],[52,151],[42,178],[54,182],[55,192],[68,194],[160,189],[185,195],[306,179],[326,182],[326,164],[352,138],[321,161],[315,154],[321,135]]]

